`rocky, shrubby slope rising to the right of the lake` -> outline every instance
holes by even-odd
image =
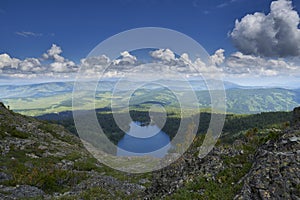
[[[285,130],[248,130],[203,159],[195,156],[198,137],[181,160],[154,175],[146,192],[166,199],[299,199],[300,108],[294,121]]]

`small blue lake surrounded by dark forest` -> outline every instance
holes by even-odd
[[[153,156],[162,158],[171,147],[170,137],[156,125],[131,122],[130,129],[118,142],[117,156]]]

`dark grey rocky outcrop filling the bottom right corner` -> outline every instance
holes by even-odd
[[[257,150],[235,199],[300,199],[300,108],[293,114],[294,126]]]

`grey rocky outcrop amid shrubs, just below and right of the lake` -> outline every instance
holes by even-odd
[[[237,143],[243,143],[243,141],[237,140]],[[242,150],[223,145],[215,146],[204,158],[199,158],[198,152],[198,148],[190,148],[175,163],[154,172],[152,185],[145,191],[146,199],[164,198],[184,187],[187,182],[199,177],[205,178],[207,182],[217,181],[217,174],[229,167],[222,157],[235,157],[243,154]],[[203,193],[204,190],[199,188],[191,192]]]

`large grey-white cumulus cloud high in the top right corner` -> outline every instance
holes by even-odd
[[[299,56],[299,15],[292,1],[277,0],[271,3],[270,13],[248,14],[236,20],[230,37],[243,54],[266,57]]]

